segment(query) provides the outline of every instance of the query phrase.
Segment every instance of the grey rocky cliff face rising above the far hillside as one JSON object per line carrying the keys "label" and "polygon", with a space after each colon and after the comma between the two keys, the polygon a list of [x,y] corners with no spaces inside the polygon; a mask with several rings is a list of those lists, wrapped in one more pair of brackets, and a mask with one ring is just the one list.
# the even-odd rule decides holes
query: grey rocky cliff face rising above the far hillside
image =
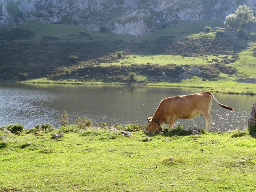
{"label": "grey rocky cliff face rising above the far hillside", "polygon": [[176,20],[224,20],[240,4],[255,9],[256,0],[0,0],[0,26],[34,20],[142,35]]}

